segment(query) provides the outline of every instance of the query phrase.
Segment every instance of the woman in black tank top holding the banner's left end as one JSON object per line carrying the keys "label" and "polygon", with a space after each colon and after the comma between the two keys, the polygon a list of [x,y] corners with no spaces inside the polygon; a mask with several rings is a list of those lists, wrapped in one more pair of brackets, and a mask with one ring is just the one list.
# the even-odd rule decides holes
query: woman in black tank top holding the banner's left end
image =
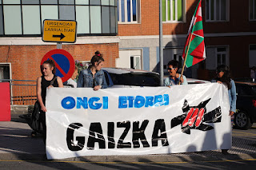
{"label": "woman in black tank top holding the banner's left end", "polygon": [[42,136],[46,142],[46,89],[50,87],[63,87],[62,78],[54,75],[56,73],[53,60],[44,61],[41,65],[42,77],[37,80],[37,98],[41,108],[39,120],[42,123]]}

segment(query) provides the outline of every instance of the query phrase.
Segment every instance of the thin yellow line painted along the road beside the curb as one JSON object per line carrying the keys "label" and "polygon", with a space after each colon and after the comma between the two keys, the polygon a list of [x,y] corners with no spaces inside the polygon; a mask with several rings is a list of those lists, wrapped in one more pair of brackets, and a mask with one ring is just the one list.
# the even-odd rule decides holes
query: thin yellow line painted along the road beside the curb
{"label": "thin yellow line painted along the road beside the curb", "polygon": [[184,161],[184,162],[86,162],[86,161],[59,161],[59,160],[0,160],[0,162],[38,162],[38,163],[75,163],[75,164],[190,164],[194,162],[241,162],[256,161],[256,159],[245,160],[206,160],[206,161]]}

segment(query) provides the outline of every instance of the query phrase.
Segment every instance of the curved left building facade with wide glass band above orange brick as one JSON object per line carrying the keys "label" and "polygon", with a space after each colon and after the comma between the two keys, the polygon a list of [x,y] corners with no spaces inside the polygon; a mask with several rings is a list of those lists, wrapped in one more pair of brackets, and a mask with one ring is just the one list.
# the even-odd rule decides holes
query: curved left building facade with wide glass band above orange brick
{"label": "curved left building facade with wide glass band above orange brick", "polygon": [[106,67],[118,57],[116,0],[0,0],[0,79],[36,80],[42,57],[57,43],[42,42],[45,19],[72,20],[77,41],[62,44],[74,60],[90,61],[96,50]]}

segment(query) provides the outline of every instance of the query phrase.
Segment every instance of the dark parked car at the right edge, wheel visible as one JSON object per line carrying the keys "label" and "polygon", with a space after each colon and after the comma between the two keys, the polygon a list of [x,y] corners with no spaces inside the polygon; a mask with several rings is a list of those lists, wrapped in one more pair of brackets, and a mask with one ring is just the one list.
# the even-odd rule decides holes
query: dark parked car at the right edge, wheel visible
{"label": "dark parked car at the right edge, wheel visible", "polygon": [[234,127],[251,128],[256,122],[256,83],[235,81],[237,91],[237,112],[234,113]]}

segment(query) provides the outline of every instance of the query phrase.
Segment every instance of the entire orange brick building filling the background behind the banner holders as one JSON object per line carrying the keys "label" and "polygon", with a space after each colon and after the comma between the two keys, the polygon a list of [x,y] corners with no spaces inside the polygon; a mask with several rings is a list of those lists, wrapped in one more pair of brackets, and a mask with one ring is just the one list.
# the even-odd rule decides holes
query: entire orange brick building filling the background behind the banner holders
{"label": "entire orange brick building filling the background behind the banner holders", "polygon": [[[162,0],[164,67],[181,60],[197,4]],[[217,65],[226,64],[233,77],[250,77],[255,8],[256,0],[202,0],[206,61],[186,69],[186,76],[209,80]],[[99,50],[106,67],[159,70],[159,0],[0,0],[0,79],[40,75],[42,57],[56,49],[56,43],[42,42],[44,19],[78,22],[77,42],[62,45],[75,60],[89,61]]]}

